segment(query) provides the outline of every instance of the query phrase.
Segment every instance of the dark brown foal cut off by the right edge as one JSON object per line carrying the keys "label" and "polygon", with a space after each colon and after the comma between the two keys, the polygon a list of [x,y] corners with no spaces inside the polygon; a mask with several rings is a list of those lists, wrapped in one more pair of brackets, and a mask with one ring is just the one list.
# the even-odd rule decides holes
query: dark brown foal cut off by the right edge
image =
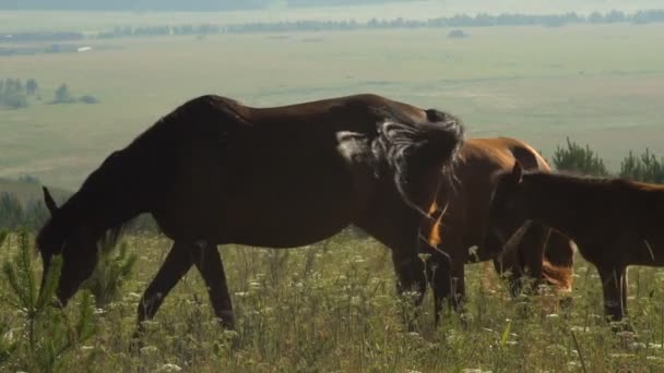
{"label": "dark brown foal cut off by the right edge", "polygon": [[502,230],[505,218],[518,217],[572,238],[600,273],[606,315],[619,321],[627,314],[627,266],[664,266],[662,214],[664,185],[524,172],[515,163],[499,176],[489,226]]}

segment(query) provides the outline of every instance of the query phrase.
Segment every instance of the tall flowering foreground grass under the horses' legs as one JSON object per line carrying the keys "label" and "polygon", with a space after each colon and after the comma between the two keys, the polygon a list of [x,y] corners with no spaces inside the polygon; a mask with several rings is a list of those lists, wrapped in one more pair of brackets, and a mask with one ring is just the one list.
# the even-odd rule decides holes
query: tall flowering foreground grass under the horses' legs
{"label": "tall flowering foreground grass under the horses' legs", "polygon": [[[20,252],[16,236],[0,260]],[[631,272],[630,315],[638,333],[615,334],[602,316],[600,280],[579,261],[571,304],[552,291],[510,299],[485,266],[467,270],[469,302],[462,315],[434,327],[429,297],[415,332],[402,321],[404,300],[394,291],[389,252],[372,240],[339,236],[289,251],[224,246],[222,255],[238,316],[237,332],[214,320],[198,273],[192,270],[146,323],[140,351],[130,336],[141,292],[170,242],[156,236],[126,238],[138,255],[119,298],[94,312],[95,333],[59,356],[59,370],[258,372],[512,372],[661,371],[664,369],[664,272]],[[36,265],[38,262],[35,262]],[[12,290],[0,282],[2,294]],[[72,318],[90,305],[78,296]],[[0,352],[25,338],[25,316],[3,298]],[[55,311],[54,311],[55,312]],[[48,340],[48,336],[45,337]],[[4,345],[3,345],[4,344]],[[2,354],[0,353],[0,357]],[[9,350],[0,370],[25,369]]]}

